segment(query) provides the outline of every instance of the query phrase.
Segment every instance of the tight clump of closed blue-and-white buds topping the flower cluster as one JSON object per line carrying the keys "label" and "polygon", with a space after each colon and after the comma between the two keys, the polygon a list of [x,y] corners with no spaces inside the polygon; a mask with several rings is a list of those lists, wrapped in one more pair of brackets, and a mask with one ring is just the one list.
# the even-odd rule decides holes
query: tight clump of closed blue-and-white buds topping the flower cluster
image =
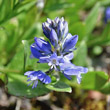
{"label": "tight clump of closed blue-and-white buds topping the flower cluster", "polygon": [[[62,17],[59,19],[58,17],[55,20],[51,20],[47,18],[47,21],[42,24],[42,29],[44,35],[50,40],[52,45],[55,45],[55,42],[61,41],[68,34],[68,23],[64,21]],[[55,42],[52,42],[55,39]]]}

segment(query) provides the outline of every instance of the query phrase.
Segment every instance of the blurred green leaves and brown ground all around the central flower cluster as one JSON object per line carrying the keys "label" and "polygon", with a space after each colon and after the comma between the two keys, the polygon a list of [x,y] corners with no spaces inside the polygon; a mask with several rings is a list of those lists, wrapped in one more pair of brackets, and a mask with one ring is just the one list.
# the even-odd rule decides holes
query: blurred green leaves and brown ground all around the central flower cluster
{"label": "blurred green leaves and brown ground all around the central flower cluster", "polygon": [[[110,0],[0,0],[0,110],[110,110],[109,6]],[[42,23],[55,17],[64,17],[69,32],[79,36],[72,62],[89,73],[80,85],[75,78],[64,80],[72,93],[29,95],[23,66],[47,69],[29,58],[29,45],[35,36],[44,37]]]}

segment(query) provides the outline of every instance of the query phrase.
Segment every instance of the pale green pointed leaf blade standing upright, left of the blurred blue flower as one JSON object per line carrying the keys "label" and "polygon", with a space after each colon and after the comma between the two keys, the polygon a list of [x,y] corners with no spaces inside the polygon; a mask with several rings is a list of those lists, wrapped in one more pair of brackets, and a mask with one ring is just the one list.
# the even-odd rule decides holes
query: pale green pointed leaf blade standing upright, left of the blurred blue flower
{"label": "pale green pointed leaf blade standing upright, left of the blurred blue flower", "polygon": [[85,24],[87,35],[90,34],[96,26],[97,18],[99,16],[99,9],[100,3],[98,2],[96,3],[96,5],[93,7],[93,9],[86,18]]}

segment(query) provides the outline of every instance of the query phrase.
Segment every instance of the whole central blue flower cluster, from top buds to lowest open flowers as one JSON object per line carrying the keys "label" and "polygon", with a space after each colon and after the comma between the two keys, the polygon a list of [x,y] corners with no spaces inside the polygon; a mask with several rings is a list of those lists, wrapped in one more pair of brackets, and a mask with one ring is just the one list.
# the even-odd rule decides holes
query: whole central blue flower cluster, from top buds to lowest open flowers
{"label": "whole central blue flower cluster, from top buds to lowest open flowers", "polygon": [[[47,18],[47,21],[42,24],[42,29],[48,41],[35,37],[35,42],[30,46],[31,56],[39,59],[38,63],[48,63],[50,71],[62,73],[69,80],[72,75],[75,75],[80,83],[81,73],[87,73],[88,69],[71,63],[78,36],[72,36],[68,32],[68,23],[63,17],[61,19],[56,17],[55,20]],[[33,82],[34,88],[38,80],[45,84],[51,83],[51,78],[46,73],[28,71],[25,75],[28,76],[28,81]]]}

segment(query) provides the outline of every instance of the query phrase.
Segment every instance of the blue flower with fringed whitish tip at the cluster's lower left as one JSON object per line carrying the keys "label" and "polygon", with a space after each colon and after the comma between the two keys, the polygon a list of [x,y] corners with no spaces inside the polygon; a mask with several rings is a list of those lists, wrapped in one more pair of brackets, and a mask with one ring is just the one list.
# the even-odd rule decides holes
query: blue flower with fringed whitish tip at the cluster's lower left
{"label": "blue flower with fringed whitish tip at the cluster's lower left", "polygon": [[28,71],[24,73],[24,75],[27,75],[27,77],[29,78],[27,81],[31,81],[28,85],[33,83],[32,88],[37,87],[38,80],[45,84],[51,83],[51,78],[42,71]]}

